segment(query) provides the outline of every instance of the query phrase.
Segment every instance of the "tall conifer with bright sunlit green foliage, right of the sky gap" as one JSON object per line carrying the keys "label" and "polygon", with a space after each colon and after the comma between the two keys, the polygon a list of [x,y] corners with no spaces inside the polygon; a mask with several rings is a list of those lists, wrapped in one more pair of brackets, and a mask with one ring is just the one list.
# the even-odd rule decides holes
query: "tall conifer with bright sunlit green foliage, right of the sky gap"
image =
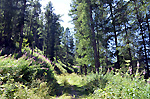
{"label": "tall conifer with bright sunlit green foliage, right of the sky gap", "polygon": [[[75,34],[78,40],[76,43],[78,53],[77,60],[85,60],[83,62],[78,60],[78,63],[82,63],[81,65],[86,68],[90,65],[90,63],[86,61],[94,61],[95,69],[99,72],[99,50],[96,41],[95,23],[93,21],[93,2],[94,1],[90,0],[74,0],[70,14],[74,18],[73,21],[77,32]],[[89,59],[87,59],[88,57]]]}

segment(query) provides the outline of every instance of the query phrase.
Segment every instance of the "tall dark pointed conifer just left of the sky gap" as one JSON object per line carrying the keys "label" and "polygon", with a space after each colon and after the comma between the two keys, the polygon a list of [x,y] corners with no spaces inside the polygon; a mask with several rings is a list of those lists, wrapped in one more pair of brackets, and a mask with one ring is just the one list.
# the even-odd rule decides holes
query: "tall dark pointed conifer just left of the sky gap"
{"label": "tall dark pointed conifer just left of the sky gap", "polygon": [[60,27],[60,24],[59,24],[60,15],[56,15],[54,13],[51,2],[48,3],[45,9],[46,9],[46,12],[45,12],[45,21],[46,21],[45,23],[45,31],[46,31],[45,54],[52,61],[54,61],[56,38],[59,38],[60,36],[60,31],[58,31]]}

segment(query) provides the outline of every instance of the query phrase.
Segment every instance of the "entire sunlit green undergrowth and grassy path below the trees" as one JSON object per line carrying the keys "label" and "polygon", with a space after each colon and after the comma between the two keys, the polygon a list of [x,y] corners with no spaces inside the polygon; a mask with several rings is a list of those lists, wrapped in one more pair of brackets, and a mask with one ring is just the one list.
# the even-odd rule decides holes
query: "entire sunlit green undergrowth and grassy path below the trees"
{"label": "entire sunlit green undergrowth and grassy path below the trees", "polygon": [[29,53],[18,59],[0,56],[1,99],[150,98],[150,85],[138,71],[134,77],[113,71],[85,76],[68,73],[60,62],[56,65],[62,74],[58,75],[48,58],[36,52],[30,57]]}

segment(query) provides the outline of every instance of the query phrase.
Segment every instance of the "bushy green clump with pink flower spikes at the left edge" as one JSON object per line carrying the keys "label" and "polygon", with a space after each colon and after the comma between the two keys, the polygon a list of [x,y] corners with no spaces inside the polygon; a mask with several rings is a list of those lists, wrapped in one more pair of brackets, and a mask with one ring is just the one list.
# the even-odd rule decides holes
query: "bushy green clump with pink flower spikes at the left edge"
{"label": "bushy green clump with pink flower spikes at the left edge", "polygon": [[1,59],[0,74],[2,78],[4,77],[2,80],[4,83],[9,79],[14,79],[15,82],[22,82],[25,84],[31,81],[34,69],[30,64],[33,60],[29,59],[25,61],[25,56],[18,60],[13,59],[11,56],[1,57]]}

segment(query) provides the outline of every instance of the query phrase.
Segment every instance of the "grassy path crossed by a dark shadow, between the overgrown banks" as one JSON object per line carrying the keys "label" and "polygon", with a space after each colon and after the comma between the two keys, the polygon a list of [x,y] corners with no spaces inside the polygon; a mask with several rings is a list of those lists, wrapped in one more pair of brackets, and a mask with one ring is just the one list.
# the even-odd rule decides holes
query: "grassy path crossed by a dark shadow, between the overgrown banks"
{"label": "grassy path crossed by a dark shadow, between the overgrown banks", "polygon": [[76,74],[57,75],[56,79],[61,86],[62,95],[55,99],[78,99],[88,95],[87,89],[84,88],[83,76]]}

